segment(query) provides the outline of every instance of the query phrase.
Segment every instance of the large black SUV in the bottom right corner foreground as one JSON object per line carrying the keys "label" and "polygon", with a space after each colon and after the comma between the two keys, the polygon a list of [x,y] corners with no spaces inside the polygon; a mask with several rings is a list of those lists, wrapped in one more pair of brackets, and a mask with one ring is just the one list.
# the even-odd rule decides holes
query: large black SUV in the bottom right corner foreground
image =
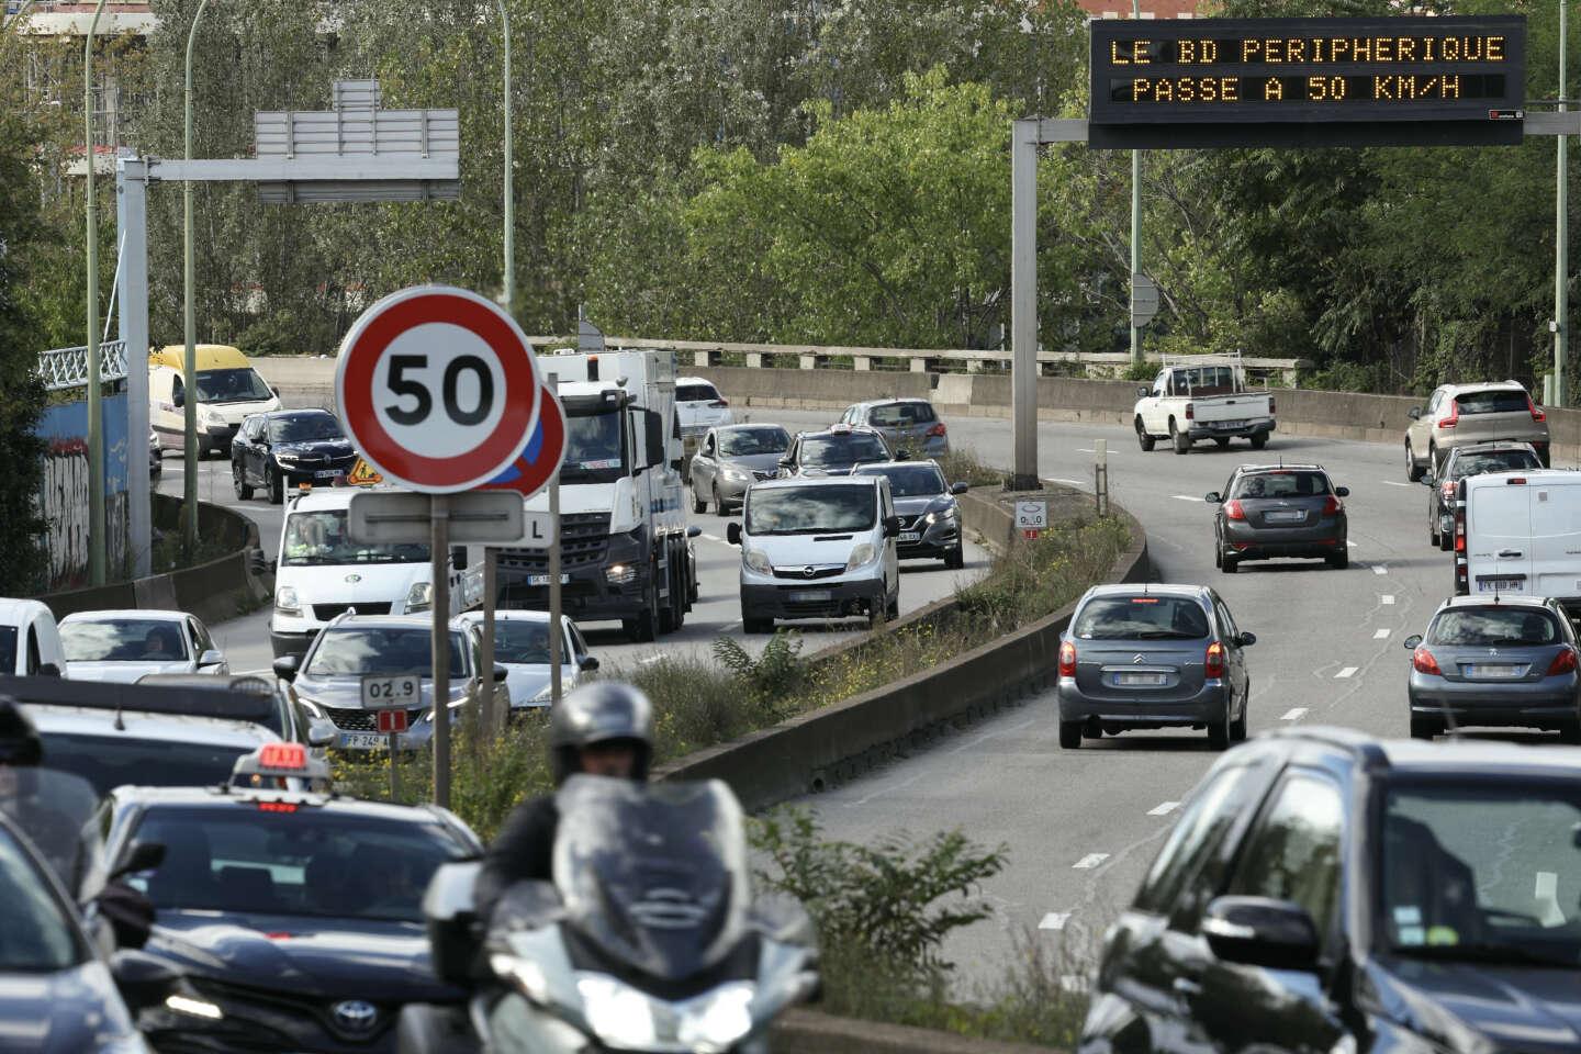
{"label": "large black SUV in the bottom right corner foreground", "polygon": [[1110,928],[1080,1051],[1575,1051],[1581,751],[1282,730]]}

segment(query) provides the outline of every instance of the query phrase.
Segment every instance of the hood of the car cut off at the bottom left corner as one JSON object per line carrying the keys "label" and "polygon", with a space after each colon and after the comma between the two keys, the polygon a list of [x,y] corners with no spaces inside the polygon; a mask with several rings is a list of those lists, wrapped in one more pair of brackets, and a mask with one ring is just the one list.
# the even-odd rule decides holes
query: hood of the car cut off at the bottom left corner
{"label": "hood of the car cut off at the bottom left corner", "polygon": [[55,973],[0,972],[0,1051],[81,1054],[141,1049],[126,1005],[100,961]]}

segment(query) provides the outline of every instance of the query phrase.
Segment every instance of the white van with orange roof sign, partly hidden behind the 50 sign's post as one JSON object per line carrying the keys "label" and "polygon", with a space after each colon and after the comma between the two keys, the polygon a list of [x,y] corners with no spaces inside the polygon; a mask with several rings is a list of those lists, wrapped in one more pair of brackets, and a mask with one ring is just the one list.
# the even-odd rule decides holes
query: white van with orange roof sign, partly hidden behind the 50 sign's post
{"label": "white van with orange roof sign, partly hidden behind the 50 sign's post", "polygon": [[[286,496],[275,559],[275,608],[269,645],[300,656],[332,618],[414,615],[432,610],[433,564],[427,544],[364,545],[351,540],[346,515],[360,487],[319,487]],[[482,577],[466,572],[466,547],[451,548],[451,615],[482,600]]]}

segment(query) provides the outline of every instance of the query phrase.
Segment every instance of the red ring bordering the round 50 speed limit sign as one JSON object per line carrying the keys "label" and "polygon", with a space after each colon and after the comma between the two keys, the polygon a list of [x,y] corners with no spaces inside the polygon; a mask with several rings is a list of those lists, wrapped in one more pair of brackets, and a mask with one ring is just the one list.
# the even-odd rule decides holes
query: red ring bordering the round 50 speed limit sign
{"label": "red ring bordering the round 50 speed limit sign", "polygon": [[[397,297],[402,294],[395,294]],[[341,420],[362,455],[379,471],[419,490],[462,490],[490,479],[520,450],[536,425],[539,384],[533,352],[509,318],[492,303],[455,292],[422,292],[387,307],[341,351],[337,378]],[[504,373],[504,412],[489,436],[465,454],[432,458],[400,446],[373,409],[373,373],[379,356],[417,326],[446,322],[471,330],[493,349]]]}

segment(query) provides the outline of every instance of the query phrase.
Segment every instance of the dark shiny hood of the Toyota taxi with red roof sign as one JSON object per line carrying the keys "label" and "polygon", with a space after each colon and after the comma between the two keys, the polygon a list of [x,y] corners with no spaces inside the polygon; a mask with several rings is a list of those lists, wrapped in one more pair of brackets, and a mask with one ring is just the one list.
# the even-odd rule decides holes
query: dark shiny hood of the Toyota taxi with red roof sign
{"label": "dark shiny hood of the Toyota taxi with red roof sign", "polygon": [[161,910],[145,951],[183,972],[294,996],[378,1003],[458,996],[435,980],[421,923]]}

